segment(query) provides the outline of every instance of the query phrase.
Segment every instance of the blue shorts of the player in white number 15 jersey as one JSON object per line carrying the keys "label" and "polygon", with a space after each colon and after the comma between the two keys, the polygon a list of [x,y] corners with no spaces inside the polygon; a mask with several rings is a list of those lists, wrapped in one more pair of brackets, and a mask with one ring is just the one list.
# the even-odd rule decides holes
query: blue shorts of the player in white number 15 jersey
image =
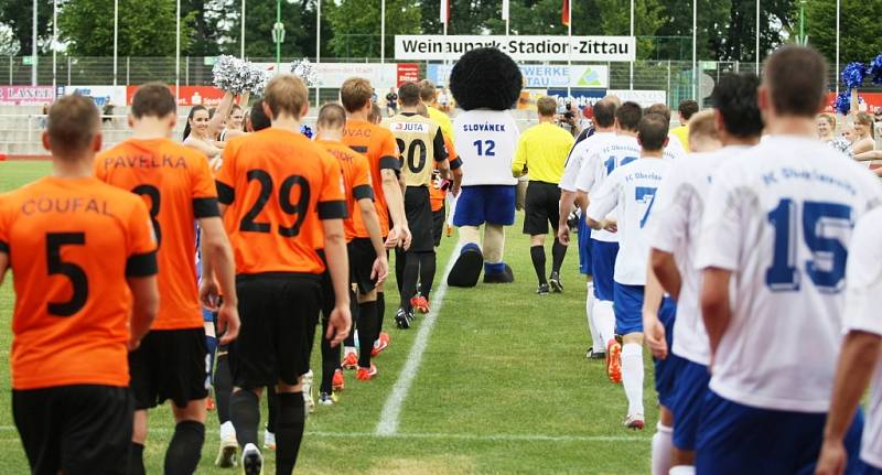
{"label": "blue shorts of the player in white number 15 jersey", "polygon": [[[708,390],[698,428],[696,473],[814,474],[826,419],[826,413],[743,406]],[[859,409],[846,433],[846,474],[858,474],[862,468],[858,458],[862,429]]]}

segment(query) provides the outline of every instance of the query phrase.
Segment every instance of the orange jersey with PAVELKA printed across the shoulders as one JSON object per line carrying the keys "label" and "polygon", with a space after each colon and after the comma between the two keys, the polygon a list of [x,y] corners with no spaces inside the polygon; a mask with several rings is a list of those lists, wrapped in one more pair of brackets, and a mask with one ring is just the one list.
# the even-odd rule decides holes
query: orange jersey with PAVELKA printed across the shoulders
{"label": "orange jersey with PAVELKA printed across the shoulders", "polygon": [[141,195],[150,210],[162,298],[151,328],[202,328],[195,220],[219,216],[208,160],[169,139],[129,139],[95,159],[95,175]]}

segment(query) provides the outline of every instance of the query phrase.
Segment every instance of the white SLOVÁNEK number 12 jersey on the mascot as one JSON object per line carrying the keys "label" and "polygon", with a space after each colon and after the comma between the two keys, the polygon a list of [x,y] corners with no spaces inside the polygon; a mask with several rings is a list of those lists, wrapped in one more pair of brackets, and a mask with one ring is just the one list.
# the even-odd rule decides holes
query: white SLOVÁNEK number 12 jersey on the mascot
{"label": "white SLOV\u00c1NEK number 12 jersey on the mascot", "polygon": [[512,162],[520,131],[505,110],[470,110],[453,121],[462,185],[515,185]]}

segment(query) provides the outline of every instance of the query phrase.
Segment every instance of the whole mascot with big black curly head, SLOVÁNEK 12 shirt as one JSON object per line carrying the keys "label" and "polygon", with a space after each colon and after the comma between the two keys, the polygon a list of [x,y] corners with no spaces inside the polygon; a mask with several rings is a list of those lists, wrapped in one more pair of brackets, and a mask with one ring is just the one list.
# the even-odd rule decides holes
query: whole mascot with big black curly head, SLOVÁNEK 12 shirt
{"label": "whole mascot with big black curly head, SLOV\u00c1NEK 12 shirt", "polygon": [[[503,262],[505,226],[515,223],[512,161],[519,137],[509,115],[520,97],[520,68],[496,48],[465,53],[450,74],[450,90],[464,110],[453,121],[453,138],[462,159],[462,192],[453,225],[460,229],[460,256],[448,284],[474,287],[484,270],[485,283],[514,282]],[[481,227],[484,240],[481,245]]]}

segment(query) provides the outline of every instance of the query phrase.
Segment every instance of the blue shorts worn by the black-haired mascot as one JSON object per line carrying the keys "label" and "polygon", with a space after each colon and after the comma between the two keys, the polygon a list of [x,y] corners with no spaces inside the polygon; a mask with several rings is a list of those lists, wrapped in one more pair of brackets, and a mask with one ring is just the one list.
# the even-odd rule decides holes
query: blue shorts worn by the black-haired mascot
{"label": "blue shorts worn by the black-haired mascot", "polygon": [[515,224],[514,185],[463,186],[456,198],[453,226]]}

